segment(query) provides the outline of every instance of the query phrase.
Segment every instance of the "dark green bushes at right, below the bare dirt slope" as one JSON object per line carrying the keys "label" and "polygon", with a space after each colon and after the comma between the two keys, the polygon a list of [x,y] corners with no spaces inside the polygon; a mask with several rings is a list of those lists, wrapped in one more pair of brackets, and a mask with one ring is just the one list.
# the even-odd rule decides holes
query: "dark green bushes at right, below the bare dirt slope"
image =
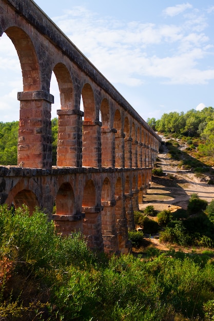
{"label": "dark green bushes at right, below the bare dirt slope", "polygon": [[144,234],[160,232],[161,241],[181,246],[214,247],[214,200],[208,205],[206,200],[193,193],[187,210],[163,210],[158,212],[155,220],[150,217],[153,216],[151,210],[149,206],[144,212],[134,212],[134,222]]}

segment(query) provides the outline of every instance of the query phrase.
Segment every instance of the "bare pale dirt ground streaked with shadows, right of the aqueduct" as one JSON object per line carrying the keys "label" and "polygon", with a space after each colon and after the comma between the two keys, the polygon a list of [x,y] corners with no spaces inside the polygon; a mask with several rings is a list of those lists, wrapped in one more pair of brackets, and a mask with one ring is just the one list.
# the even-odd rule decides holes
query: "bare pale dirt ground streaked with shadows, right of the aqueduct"
{"label": "bare pale dirt ground streaked with shadows, right of the aqueduct", "polygon": [[[179,208],[186,209],[192,193],[197,193],[200,198],[206,199],[208,203],[214,199],[214,186],[207,184],[208,176],[203,175],[199,178],[190,170],[181,170],[178,167],[179,162],[169,158],[166,147],[163,153],[158,155],[158,158],[157,165],[162,167],[165,175],[163,177],[152,176],[150,189],[144,195],[143,204],[139,205],[140,210],[144,210],[148,205],[152,205],[157,211],[170,209],[173,212]],[[160,243],[159,237],[147,240],[160,250],[173,248],[176,251],[192,252],[192,248],[181,248]],[[200,252],[201,250],[194,248],[195,252]]]}

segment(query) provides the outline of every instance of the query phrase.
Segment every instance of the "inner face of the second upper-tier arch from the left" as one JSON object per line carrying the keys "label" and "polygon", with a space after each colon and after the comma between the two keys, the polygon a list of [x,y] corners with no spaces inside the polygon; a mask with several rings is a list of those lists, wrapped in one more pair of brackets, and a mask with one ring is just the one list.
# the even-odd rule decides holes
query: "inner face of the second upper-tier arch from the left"
{"label": "inner face of the second upper-tier arch from the left", "polygon": [[61,109],[72,109],[74,106],[73,82],[67,67],[58,63],[53,68],[60,90]]}

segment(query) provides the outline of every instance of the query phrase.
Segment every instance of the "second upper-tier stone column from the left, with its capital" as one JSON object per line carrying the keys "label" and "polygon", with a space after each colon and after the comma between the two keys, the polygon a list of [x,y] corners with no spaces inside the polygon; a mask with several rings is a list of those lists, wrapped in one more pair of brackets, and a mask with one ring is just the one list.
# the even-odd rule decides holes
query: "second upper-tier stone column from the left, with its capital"
{"label": "second upper-tier stone column from the left, with its capital", "polygon": [[61,109],[57,141],[57,166],[82,166],[82,116],[80,110]]}

